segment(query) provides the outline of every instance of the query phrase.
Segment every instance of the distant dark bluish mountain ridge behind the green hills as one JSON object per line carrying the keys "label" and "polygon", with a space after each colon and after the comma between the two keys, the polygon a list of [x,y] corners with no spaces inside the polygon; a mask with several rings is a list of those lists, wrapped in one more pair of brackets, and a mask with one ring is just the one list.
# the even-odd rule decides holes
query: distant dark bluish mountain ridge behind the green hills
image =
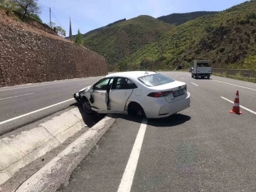
{"label": "distant dark bluish mountain ridge behind the green hills", "polygon": [[193,20],[195,18],[201,17],[201,16],[207,16],[210,14],[218,14],[218,11],[196,11],[186,14],[170,14],[168,16],[160,16],[160,21],[164,21],[165,23],[171,23],[176,26],[180,26],[183,23],[186,23],[187,21]]}

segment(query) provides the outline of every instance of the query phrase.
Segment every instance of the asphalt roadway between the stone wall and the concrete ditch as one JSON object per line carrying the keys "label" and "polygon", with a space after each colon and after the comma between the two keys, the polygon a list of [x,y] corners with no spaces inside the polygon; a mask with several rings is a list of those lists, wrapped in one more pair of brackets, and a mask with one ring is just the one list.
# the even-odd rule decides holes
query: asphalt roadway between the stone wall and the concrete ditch
{"label": "asphalt roadway between the stone wall and the concrete ditch", "polygon": [[70,107],[75,104],[71,93],[100,78],[0,87],[0,135]]}

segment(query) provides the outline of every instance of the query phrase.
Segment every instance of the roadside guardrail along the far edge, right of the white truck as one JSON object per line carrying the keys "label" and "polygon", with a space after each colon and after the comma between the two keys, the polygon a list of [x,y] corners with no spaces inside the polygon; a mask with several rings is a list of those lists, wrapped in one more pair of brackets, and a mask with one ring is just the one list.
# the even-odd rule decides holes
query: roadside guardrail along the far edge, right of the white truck
{"label": "roadside guardrail along the far edge, right of the white truck", "polygon": [[213,74],[221,75],[226,78],[246,79],[252,82],[256,81],[256,70],[213,68]]}

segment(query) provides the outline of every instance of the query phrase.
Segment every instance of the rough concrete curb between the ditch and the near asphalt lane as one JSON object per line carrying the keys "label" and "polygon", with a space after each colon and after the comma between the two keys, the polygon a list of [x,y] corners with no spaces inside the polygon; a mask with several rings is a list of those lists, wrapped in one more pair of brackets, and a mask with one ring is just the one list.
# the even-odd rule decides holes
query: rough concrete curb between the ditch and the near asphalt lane
{"label": "rough concrete curb between the ditch and the near asphalt lane", "polygon": [[105,132],[110,129],[115,120],[113,115],[107,115],[107,117],[82,134],[46,166],[43,166],[36,174],[28,178],[16,189],[16,192],[48,192],[58,190],[63,183],[68,182],[73,170],[90,153],[91,149],[100,141]]}

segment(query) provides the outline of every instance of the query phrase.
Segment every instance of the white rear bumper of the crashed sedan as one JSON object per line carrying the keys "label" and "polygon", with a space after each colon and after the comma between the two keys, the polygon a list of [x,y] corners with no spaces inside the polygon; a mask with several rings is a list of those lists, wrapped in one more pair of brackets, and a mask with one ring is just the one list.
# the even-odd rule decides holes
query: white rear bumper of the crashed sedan
{"label": "white rear bumper of the crashed sedan", "polygon": [[154,110],[144,110],[147,118],[164,118],[169,117],[171,114],[176,114],[177,112],[181,112],[188,107],[191,107],[190,103],[190,93],[183,100],[179,100],[177,102],[165,103],[164,105],[154,105]]}

